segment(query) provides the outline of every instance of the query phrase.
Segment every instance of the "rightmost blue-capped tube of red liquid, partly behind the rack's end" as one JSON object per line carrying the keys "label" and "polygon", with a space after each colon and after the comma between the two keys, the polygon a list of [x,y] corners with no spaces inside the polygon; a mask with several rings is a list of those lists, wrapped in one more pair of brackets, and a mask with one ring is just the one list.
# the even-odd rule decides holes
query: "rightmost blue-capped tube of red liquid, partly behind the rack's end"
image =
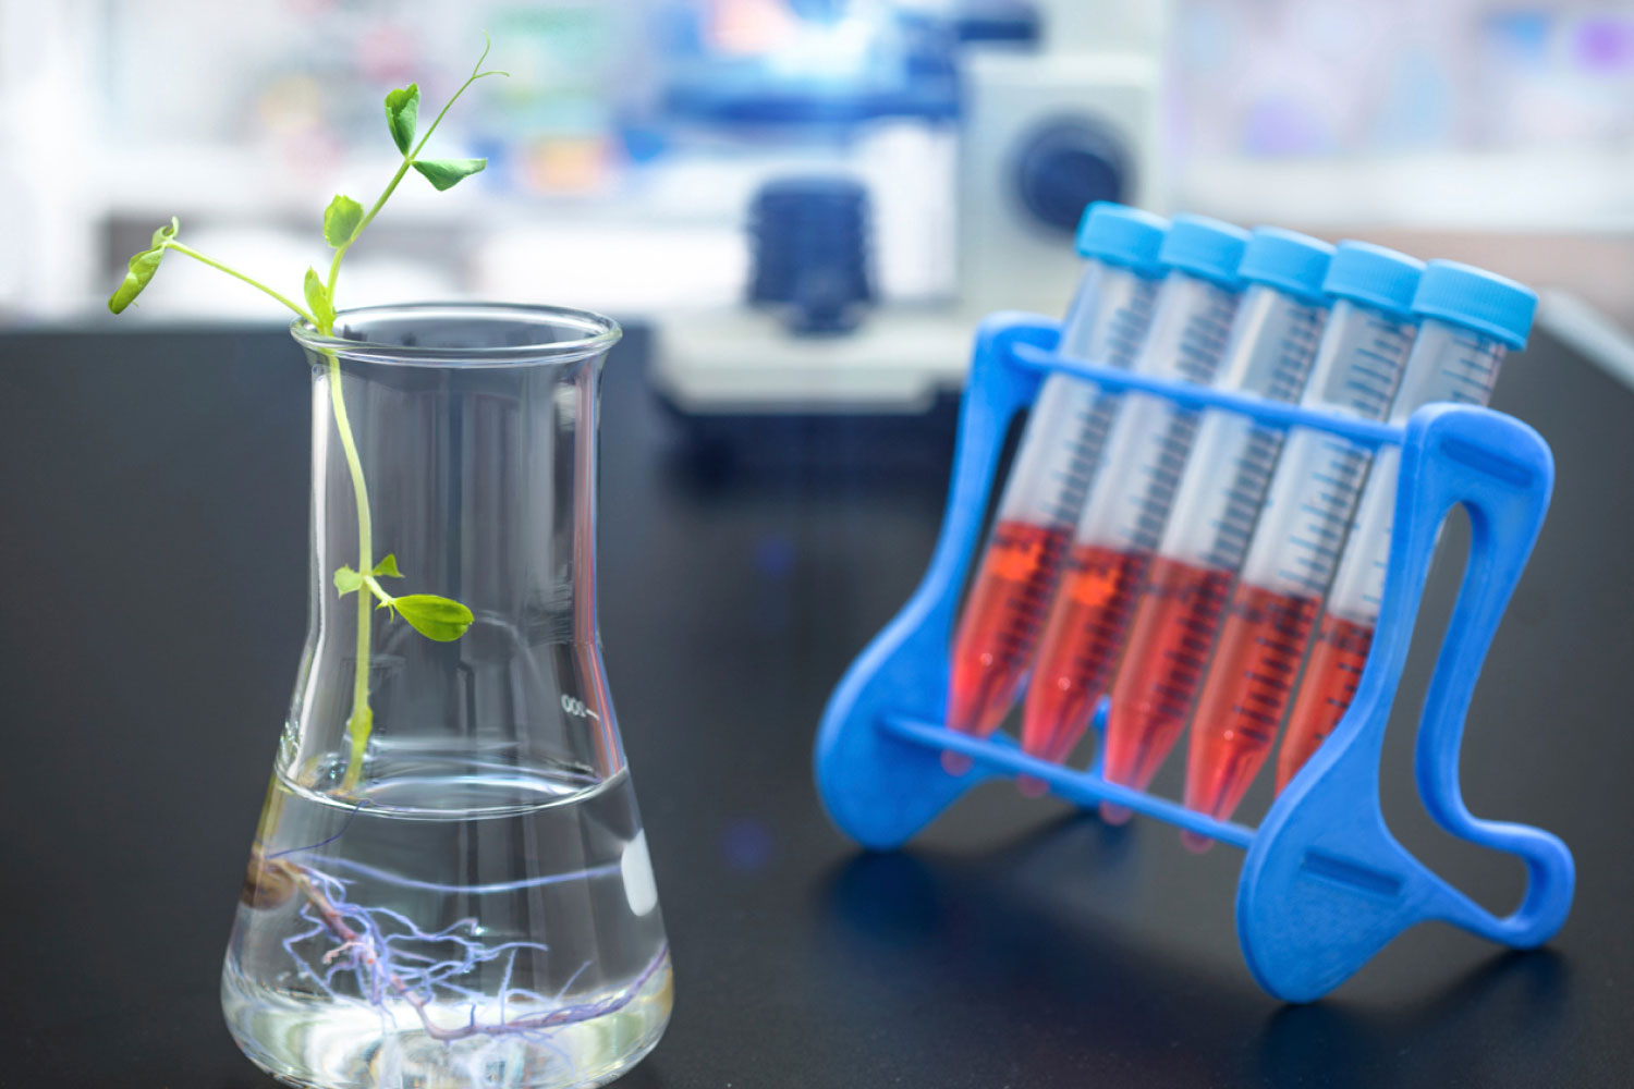
{"label": "rightmost blue-capped tube of red liquid, partly behind the rack's end", "polygon": [[[1505,351],[1526,344],[1536,307],[1538,296],[1521,284],[1467,264],[1430,261],[1413,296],[1423,328],[1391,421],[1407,423],[1415,408],[1430,402],[1485,405]],[[1278,790],[1338,725],[1361,678],[1384,599],[1399,465],[1397,447],[1384,447],[1374,459],[1356,524],[1333,576],[1322,635],[1299,682],[1288,736],[1278,753]],[[1234,792],[1240,795],[1221,784],[1201,792],[1199,802],[1229,811],[1237,802]]]}

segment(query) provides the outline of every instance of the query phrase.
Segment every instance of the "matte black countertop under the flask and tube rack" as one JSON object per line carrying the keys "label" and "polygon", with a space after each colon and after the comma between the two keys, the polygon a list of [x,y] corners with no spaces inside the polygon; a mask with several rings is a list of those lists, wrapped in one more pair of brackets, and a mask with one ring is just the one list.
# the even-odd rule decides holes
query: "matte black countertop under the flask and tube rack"
{"label": "matte black countertop under the flask and tube rack", "polygon": [[[1575,851],[1570,919],[1531,953],[1425,926],[1284,1006],[1237,952],[1234,849],[1194,857],[1168,826],[1109,829],[1007,784],[899,854],[827,823],[815,723],[918,581],[951,436],[925,439],[936,470],[881,472],[877,426],[789,423],[784,447],[820,465],[693,472],[645,353],[634,333],[606,369],[601,629],[676,1009],[621,1086],[1634,1081],[1626,389],[1539,336],[1497,395],[1554,446],[1559,485],[1476,692],[1464,790]],[[0,1086],[273,1084],[216,988],[306,627],[307,413],[281,331],[0,335]],[[1426,617],[1459,567],[1443,555]],[[1386,740],[1386,816],[1507,908],[1520,865],[1440,833],[1412,792],[1435,635]]]}

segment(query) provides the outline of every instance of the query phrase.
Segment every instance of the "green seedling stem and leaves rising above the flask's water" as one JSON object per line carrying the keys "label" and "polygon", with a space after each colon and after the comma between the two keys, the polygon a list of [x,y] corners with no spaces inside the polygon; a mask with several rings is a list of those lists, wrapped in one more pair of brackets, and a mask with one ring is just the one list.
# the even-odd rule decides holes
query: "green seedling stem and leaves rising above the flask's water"
{"label": "green seedling stem and leaves rising above the flask's water", "polygon": [[[426,142],[431,139],[431,134],[436,132],[436,126],[443,122],[443,118],[448,114],[449,108],[459,101],[459,96],[466,93],[466,88],[490,75],[508,75],[507,72],[482,69],[482,62],[487,60],[489,47],[492,46],[492,42],[487,41],[487,34],[484,34],[484,42],[482,56],[477,57],[477,64],[471,69],[471,77],[461,83],[459,90],[454,91],[453,98],[448,100],[448,104],[443,106],[426,127],[425,134],[420,136],[418,142],[415,142],[420,122],[418,85],[410,83],[408,87],[397,88],[386,95],[386,127],[404,160],[397,167],[397,173],[394,173],[392,180],[386,184],[386,191],[381,193],[368,211],[363,209],[363,204],[343,194],[337,194],[335,199],[328,202],[328,207],[324,209],[324,242],[328,243],[333,255],[328,261],[327,278],[319,276],[315,268],[307,269],[306,281],[301,289],[306,302],[304,307],[291,300],[288,296],[273,291],[266,284],[178,242],[176,235],[181,230],[181,224],[172,217],[167,225],[154,232],[149,248],[131,258],[129,271],[126,271],[124,281],[108,299],[108,309],[114,313],[123,313],[124,309],[129,307],[154,279],[154,273],[158,271],[158,264],[165,253],[168,250],[175,250],[183,256],[203,261],[204,264],[221,269],[227,276],[240,279],[250,287],[265,292],[292,310],[301,317],[301,320],[307,322],[324,336],[333,336],[335,286],[340,281],[340,263],[353,243],[356,243],[363,232],[368,230],[369,224],[374,222],[381,207],[384,207],[386,201],[397,191],[397,184],[408,175],[408,171],[413,170],[422,178],[430,181],[433,188],[443,191],[451,189],[464,178],[469,178],[487,167],[485,158],[422,158],[420,155],[420,152],[425,150]],[[356,673],[353,678],[351,715],[346,718],[346,735],[351,741],[351,751],[346,758],[346,772],[340,785],[342,793],[351,793],[363,774],[363,758],[368,749],[369,733],[374,728],[374,712],[369,710],[371,602],[374,602],[379,609],[386,609],[391,616],[400,616],[410,627],[413,627],[413,630],[436,642],[453,642],[459,638],[466,633],[466,629],[471,627],[474,617],[471,609],[449,598],[440,598],[436,594],[394,596],[381,585],[382,578],[404,578],[404,575],[397,570],[395,553],[387,553],[386,558],[379,562],[374,560],[369,491],[363,475],[363,462],[358,457],[358,444],[351,434],[351,423],[346,418],[346,402],[340,389],[340,358],[332,348],[325,348],[322,353],[328,358],[328,395],[335,413],[335,429],[340,434],[340,444],[346,454],[346,467],[351,473],[351,491],[358,504],[358,567],[353,568],[346,565],[335,571],[335,591],[342,598],[350,593],[358,594]],[[364,575],[363,571],[368,573]]]}

